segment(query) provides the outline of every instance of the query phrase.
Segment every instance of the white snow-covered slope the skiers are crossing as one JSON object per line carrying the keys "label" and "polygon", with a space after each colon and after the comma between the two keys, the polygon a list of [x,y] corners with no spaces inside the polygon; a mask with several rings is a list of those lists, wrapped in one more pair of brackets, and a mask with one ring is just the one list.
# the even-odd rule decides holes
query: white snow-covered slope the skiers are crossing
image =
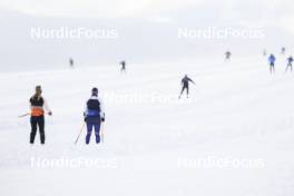
{"label": "white snow-covered slope the skiers are crossing", "polygon": [[[115,66],[1,74],[0,195],[292,196],[294,76],[284,74],[282,60],[275,76],[262,58],[216,61],[131,65],[127,75]],[[189,99],[177,100],[186,72],[196,86]],[[29,119],[17,117],[36,85],[53,111],[46,146],[38,135],[30,146]],[[105,143],[84,145],[84,131],[75,146],[94,86],[106,105]],[[133,98],[116,100],[126,95]],[[32,158],[110,165],[37,168]],[[257,164],[185,165],[199,158]]]}

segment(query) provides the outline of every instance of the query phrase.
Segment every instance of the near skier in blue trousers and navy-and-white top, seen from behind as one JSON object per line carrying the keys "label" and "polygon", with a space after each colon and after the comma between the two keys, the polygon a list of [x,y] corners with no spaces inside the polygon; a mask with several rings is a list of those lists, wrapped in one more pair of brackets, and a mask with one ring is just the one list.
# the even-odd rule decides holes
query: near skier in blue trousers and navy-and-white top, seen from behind
{"label": "near skier in blue trousers and navy-and-white top, seen from behind", "polygon": [[91,97],[86,104],[84,112],[85,121],[87,124],[86,144],[90,143],[91,131],[95,128],[96,144],[100,143],[100,125],[105,121],[104,104],[98,98],[98,89],[92,88]]}

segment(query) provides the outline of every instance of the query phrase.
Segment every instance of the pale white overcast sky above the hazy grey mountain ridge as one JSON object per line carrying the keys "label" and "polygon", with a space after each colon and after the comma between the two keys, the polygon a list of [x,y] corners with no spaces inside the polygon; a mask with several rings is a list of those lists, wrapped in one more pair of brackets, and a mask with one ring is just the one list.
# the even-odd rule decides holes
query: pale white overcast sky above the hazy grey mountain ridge
{"label": "pale white overcast sky above the hazy grey mountain ridge", "polygon": [[258,8],[261,12],[293,14],[292,0],[1,0],[1,7],[27,13],[71,17],[145,17],[168,10],[180,10],[203,4],[218,6],[226,11]]}

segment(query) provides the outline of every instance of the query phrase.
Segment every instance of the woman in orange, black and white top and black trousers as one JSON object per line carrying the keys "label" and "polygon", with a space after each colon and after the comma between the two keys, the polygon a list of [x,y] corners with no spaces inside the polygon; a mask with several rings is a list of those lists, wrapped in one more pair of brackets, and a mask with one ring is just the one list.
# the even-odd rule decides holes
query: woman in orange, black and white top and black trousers
{"label": "woman in orange, black and white top and black trousers", "polygon": [[45,144],[45,109],[48,111],[48,115],[51,116],[52,111],[49,109],[46,99],[41,96],[42,89],[41,86],[36,87],[35,95],[30,98],[30,144],[33,144],[35,137],[37,134],[37,127],[39,127],[41,144]]}

